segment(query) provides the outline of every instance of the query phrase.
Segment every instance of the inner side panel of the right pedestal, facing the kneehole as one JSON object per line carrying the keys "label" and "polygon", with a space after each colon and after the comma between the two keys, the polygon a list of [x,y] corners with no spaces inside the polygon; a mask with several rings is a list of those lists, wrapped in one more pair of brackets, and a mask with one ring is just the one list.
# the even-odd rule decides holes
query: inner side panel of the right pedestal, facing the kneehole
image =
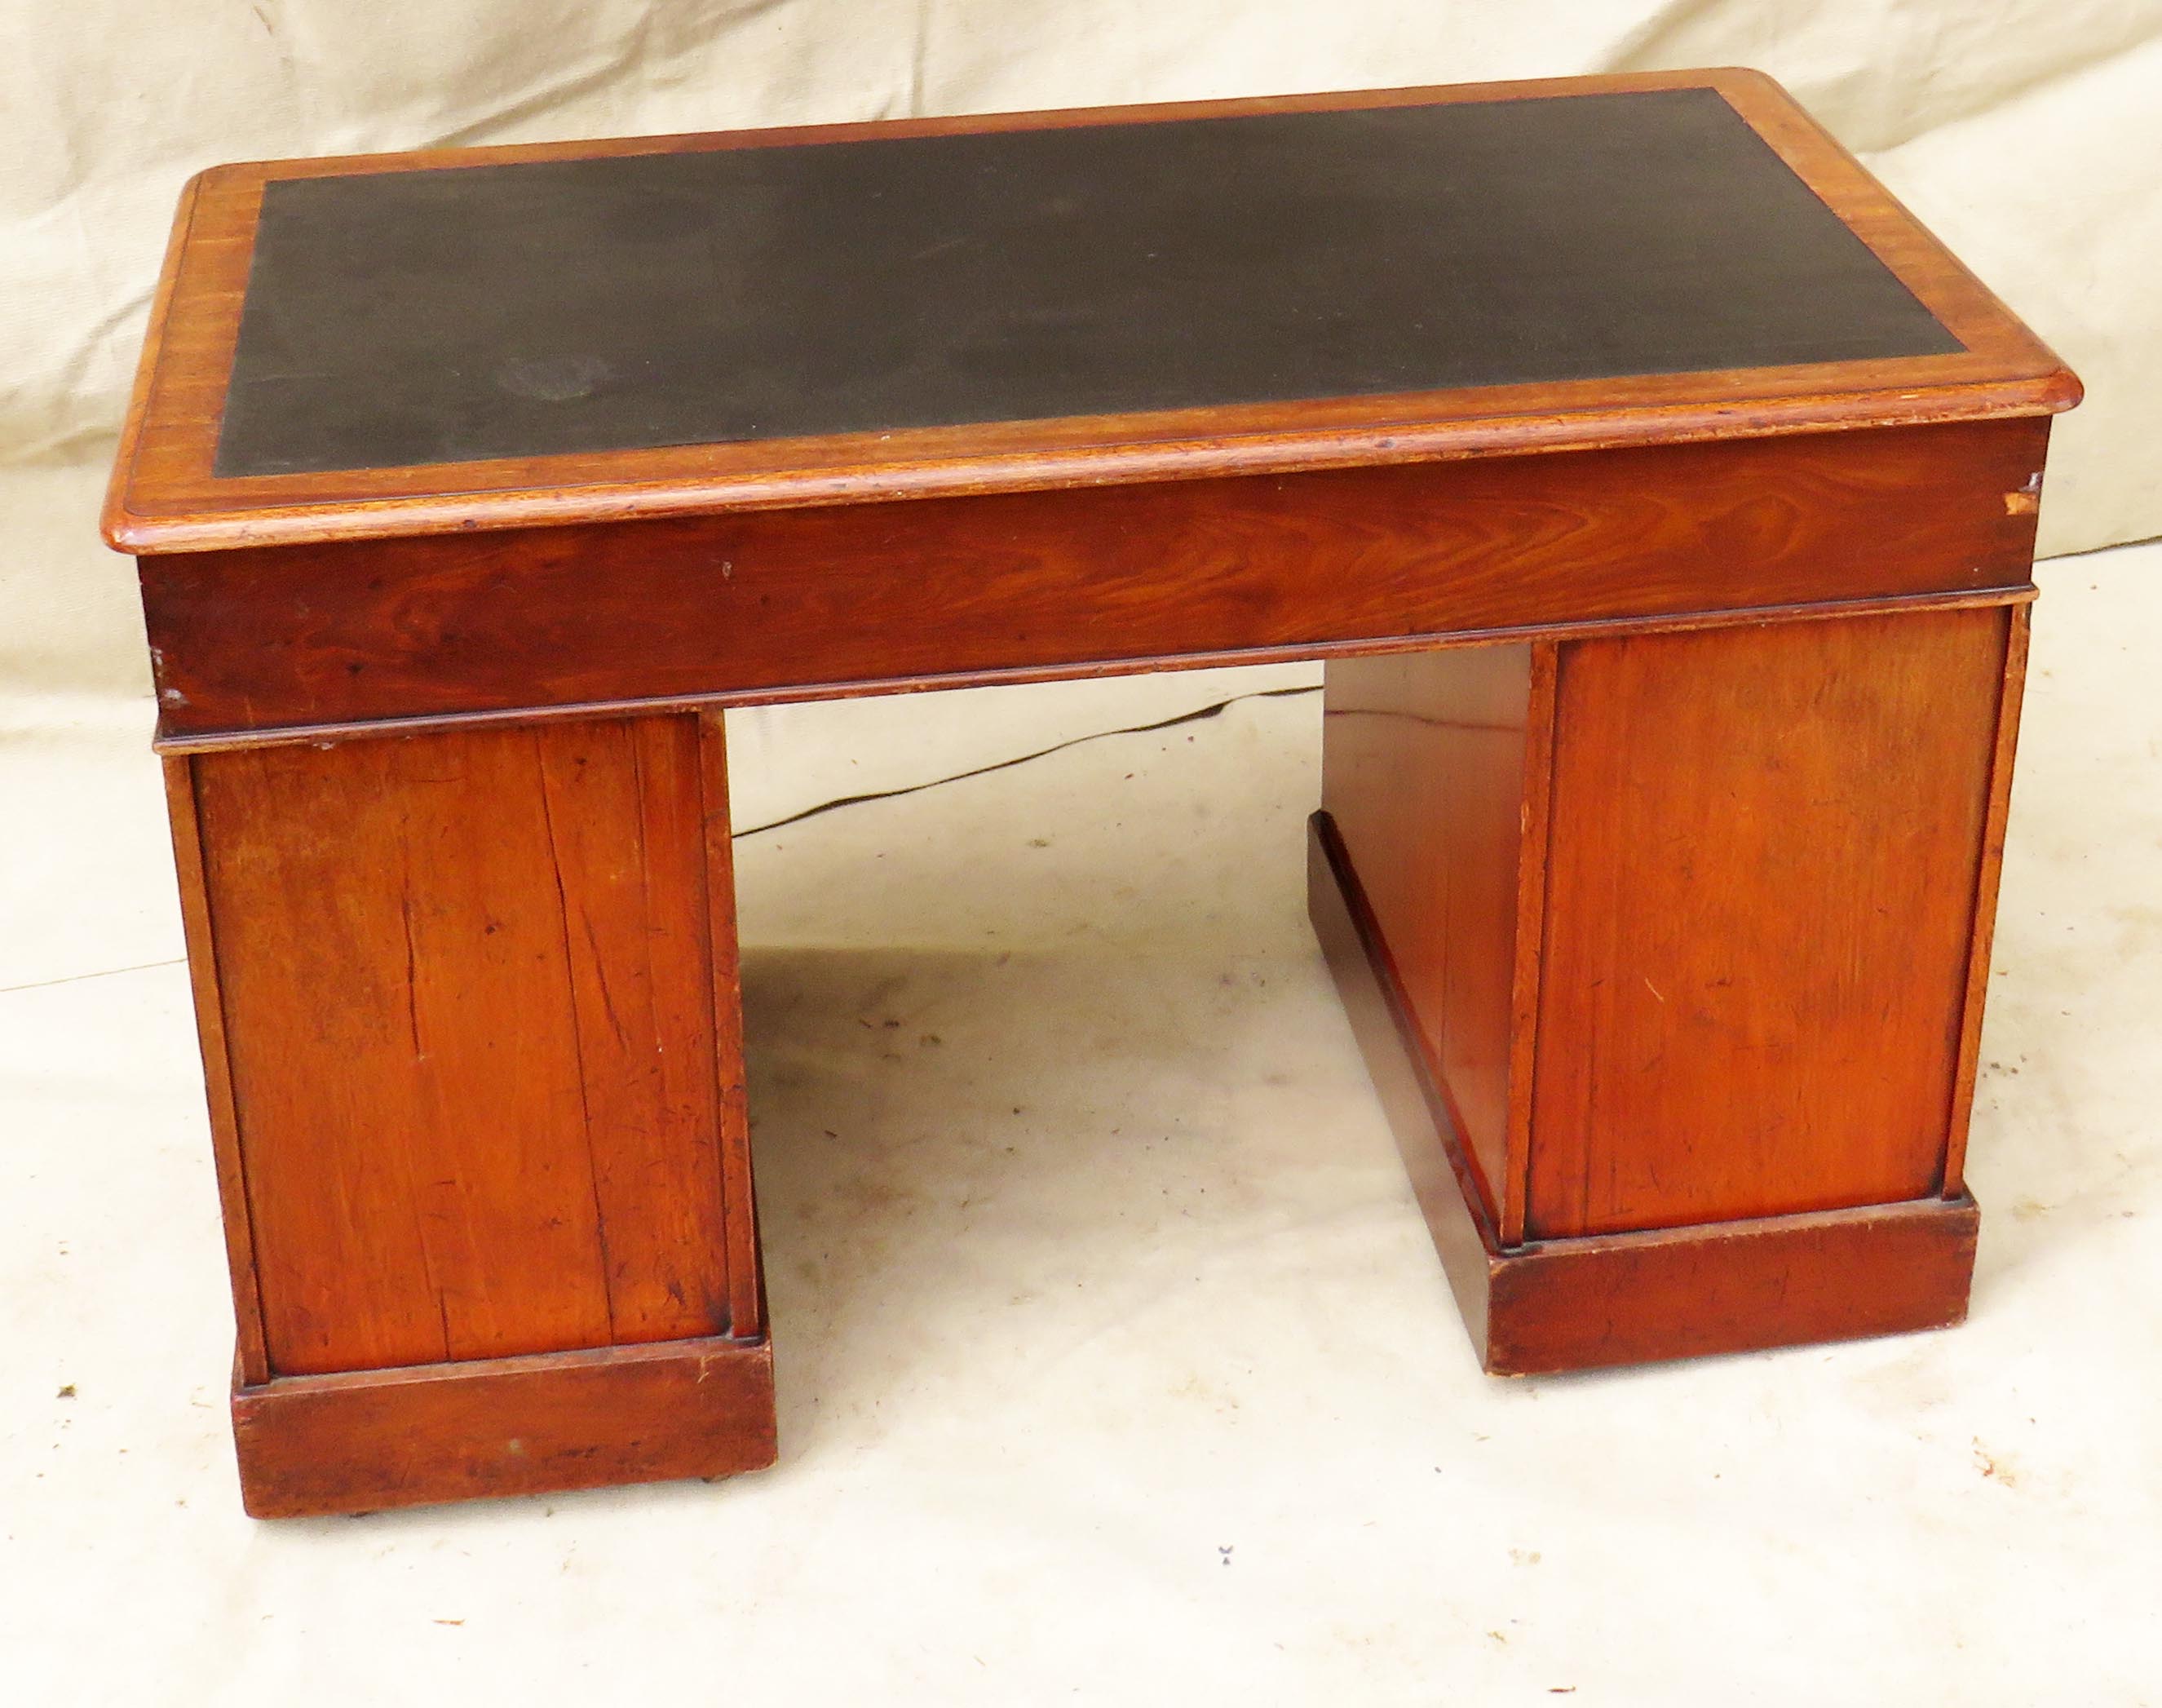
{"label": "inner side panel of the right pedestal, facing the kneehole", "polygon": [[1494,1222],[1509,1180],[1531,664],[1531,646],[1330,664],[1321,720],[1321,806]]}

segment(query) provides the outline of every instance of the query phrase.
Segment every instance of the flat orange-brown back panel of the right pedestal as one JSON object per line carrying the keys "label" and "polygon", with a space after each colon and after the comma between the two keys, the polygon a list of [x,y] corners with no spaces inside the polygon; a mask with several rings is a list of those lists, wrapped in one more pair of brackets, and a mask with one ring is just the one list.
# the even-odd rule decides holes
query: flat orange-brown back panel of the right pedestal
{"label": "flat orange-brown back panel of the right pedestal", "polygon": [[1533,1239],[1939,1191],[2006,631],[1561,651]]}

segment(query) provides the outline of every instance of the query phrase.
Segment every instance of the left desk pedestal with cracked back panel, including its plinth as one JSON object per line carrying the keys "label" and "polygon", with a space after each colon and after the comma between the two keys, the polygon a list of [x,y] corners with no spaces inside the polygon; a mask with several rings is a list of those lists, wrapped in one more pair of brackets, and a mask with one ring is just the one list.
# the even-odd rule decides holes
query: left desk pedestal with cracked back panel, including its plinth
{"label": "left desk pedestal with cracked back panel, including its plinth", "polygon": [[166,765],[249,1511],[772,1464],[720,713]]}

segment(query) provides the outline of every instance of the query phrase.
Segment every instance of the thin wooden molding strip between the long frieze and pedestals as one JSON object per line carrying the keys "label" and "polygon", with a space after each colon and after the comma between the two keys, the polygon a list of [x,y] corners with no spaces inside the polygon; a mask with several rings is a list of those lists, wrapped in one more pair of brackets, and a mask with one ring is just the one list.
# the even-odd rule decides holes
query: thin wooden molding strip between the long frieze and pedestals
{"label": "thin wooden molding strip between the long frieze and pedestals", "polygon": [[953,688],[1012,688],[1036,681],[1098,681],[1159,670],[1228,670],[1247,664],[1304,664],[1336,657],[1384,657],[1429,653],[1438,646],[1503,646],[1513,642],[1604,640],[1628,633],[1684,629],[1730,629],[1758,623],[1805,623],[1838,616],[1890,616],[1896,612],[1946,612],[1972,605],[2030,605],[2032,582],[1976,588],[1974,592],[1900,592],[1881,599],[1818,599],[1801,605],[1736,605],[1710,612],[1665,612],[1654,616],[1600,616],[1572,623],[1520,623],[1498,629],[1453,629],[1446,633],[1379,636],[1373,640],[1317,640],[1302,646],[1235,646],[1211,653],[1087,659],[1081,664],[1029,664],[999,670],[956,670],[947,675],[891,677],[884,681],[787,683],[718,694],[657,696],[640,700],[564,700],[558,705],[504,707],[499,711],[437,711],[365,722],[283,724],[275,729],[171,733],[164,718],[151,748],[160,755],[227,752],[233,748],[294,746],[309,742],[357,742],[383,735],[426,735],[430,731],[489,729],[499,724],[551,722],[558,718],[644,718],[662,711],[720,713],[729,707],[800,705],[811,700],[856,700],[869,694],[940,694]]}

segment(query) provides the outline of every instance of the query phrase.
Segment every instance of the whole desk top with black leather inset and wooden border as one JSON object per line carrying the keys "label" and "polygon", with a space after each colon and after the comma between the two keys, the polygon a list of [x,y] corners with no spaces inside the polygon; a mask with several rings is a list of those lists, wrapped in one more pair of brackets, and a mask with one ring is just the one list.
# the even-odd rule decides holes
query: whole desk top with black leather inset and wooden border
{"label": "whole desk top with black leather inset and wooden border", "polygon": [[136,551],[2041,413],[1775,84],[1576,78],[225,166]]}

